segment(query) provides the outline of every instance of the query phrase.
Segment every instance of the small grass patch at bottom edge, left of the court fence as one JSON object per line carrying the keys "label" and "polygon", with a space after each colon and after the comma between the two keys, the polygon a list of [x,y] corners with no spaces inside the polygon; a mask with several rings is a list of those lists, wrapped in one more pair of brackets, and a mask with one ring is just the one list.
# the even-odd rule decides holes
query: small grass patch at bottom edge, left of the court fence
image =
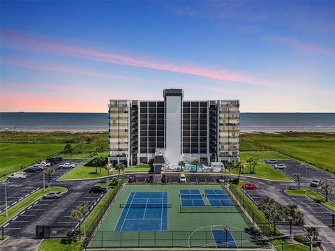
{"label": "small grass patch at bottom edge, left of the court fence", "polygon": [[84,250],[82,241],[73,241],[66,238],[52,238],[43,240],[38,251],[81,251]]}

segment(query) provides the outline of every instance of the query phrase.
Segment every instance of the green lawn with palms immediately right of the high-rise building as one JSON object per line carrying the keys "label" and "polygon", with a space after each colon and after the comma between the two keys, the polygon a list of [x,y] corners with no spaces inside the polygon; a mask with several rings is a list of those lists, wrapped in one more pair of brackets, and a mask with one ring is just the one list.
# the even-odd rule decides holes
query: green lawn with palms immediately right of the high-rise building
{"label": "green lawn with palms immediately right of the high-rise building", "polygon": [[[288,156],[285,156],[276,151],[243,151],[239,153],[241,158],[241,162],[246,164],[246,175],[255,176],[259,178],[268,178],[278,181],[290,181],[291,178],[283,174],[282,172],[270,167],[269,165],[265,165],[262,163],[262,160],[266,159],[276,159],[276,160],[285,160],[288,159]],[[258,165],[255,166],[255,174],[249,174],[250,169],[249,165],[246,163],[248,158],[253,158],[253,160],[257,160]],[[238,168],[232,169],[232,174],[239,174]],[[243,174],[243,171],[242,171]]]}

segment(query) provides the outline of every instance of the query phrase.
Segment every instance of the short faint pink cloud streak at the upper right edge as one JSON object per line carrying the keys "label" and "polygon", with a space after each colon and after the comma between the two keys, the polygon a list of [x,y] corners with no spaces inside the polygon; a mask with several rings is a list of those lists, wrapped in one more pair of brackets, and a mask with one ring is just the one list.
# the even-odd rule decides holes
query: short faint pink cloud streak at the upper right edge
{"label": "short faint pink cloud streak at the upper right edge", "polygon": [[302,52],[321,54],[324,56],[335,56],[335,50],[320,47],[318,45],[301,43],[299,40],[297,40],[297,38],[290,38],[286,36],[271,36],[265,39],[274,43],[282,43],[285,45],[290,45],[298,50],[301,50]]}

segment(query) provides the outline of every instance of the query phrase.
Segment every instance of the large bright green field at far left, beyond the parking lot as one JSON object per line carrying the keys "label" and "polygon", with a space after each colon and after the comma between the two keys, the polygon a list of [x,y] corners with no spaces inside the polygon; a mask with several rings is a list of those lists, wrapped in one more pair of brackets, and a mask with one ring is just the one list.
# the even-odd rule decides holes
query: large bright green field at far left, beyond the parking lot
{"label": "large bright green field at far left, beyond the parking lot", "polygon": [[56,155],[64,149],[64,144],[0,143],[0,176]]}

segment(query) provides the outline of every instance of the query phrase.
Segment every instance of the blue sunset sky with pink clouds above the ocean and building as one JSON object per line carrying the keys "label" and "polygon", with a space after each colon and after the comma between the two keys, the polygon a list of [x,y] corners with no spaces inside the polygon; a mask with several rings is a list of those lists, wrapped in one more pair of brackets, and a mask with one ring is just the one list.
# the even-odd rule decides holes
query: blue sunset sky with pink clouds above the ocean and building
{"label": "blue sunset sky with pink clouds above the ocean and building", "polygon": [[0,1],[0,112],[239,99],[335,112],[335,1]]}

